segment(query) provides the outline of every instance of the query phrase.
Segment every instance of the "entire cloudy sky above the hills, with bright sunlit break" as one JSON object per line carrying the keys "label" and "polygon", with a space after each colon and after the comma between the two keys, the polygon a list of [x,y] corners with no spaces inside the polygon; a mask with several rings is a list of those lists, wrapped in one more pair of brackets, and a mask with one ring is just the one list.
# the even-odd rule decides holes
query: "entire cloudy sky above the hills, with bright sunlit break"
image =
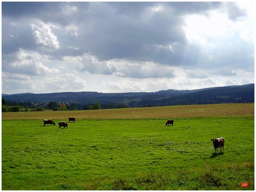
{"label": "entire cloudy sky above the hills, with bright sunlit break", "polygon": [[253,2],[2,2],[2,93],[254,83]]}

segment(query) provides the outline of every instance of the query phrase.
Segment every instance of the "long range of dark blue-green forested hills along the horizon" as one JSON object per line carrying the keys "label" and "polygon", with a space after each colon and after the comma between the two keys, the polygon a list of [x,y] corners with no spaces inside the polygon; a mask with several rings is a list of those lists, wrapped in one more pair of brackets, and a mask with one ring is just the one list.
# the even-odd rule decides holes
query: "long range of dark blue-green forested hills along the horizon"
{"label": "long range of dark blue-green forested hills along the horizon", "polygon": [[86,105],[99,102],[101,105],[126,104],[129,107],[194,105],[214,103],[252,103],[254,84],[205,88],[198,90],[162,90],[157,92],[57,92],[2,94],[2,99],[16,102],[56,103],[68,102]]}

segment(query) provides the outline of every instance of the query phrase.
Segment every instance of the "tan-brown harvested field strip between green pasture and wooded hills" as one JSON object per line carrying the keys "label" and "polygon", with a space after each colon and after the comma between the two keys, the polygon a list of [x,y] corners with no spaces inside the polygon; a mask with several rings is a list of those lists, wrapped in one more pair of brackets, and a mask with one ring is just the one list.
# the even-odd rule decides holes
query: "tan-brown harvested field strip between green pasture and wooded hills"
{"label": "tan-brown harvested field strip between green pasture and wooded hills", "polygon": [[121,109],[2,113],[2,120],[32,119],[168,119],[186,117],[231,117],[254,115],[254,103],[184,105]]}

